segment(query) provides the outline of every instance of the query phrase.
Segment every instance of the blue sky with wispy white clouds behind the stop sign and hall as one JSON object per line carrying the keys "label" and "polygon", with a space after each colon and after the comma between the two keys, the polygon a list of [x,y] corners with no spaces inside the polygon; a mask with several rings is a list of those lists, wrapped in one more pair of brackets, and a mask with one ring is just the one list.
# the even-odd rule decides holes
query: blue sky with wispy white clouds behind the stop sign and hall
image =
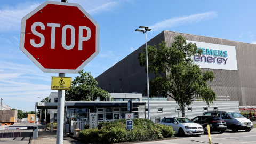
{"label": "blue sky with wispy white clouds behind the stop sign and hall", "polygon": [[[59,0],[58,2],[60,2]],[[50,95],[51,77],[20,49],[21,19],[42,0],[1,1],[0,98],[11,108],[34,111]],[[100,26],[100,52],[83,69],[95,78],[163,30],[256,44],[256,1],[238,0],[68,0],[78,3]],[[66,74],[76,77],[78,74]]]}

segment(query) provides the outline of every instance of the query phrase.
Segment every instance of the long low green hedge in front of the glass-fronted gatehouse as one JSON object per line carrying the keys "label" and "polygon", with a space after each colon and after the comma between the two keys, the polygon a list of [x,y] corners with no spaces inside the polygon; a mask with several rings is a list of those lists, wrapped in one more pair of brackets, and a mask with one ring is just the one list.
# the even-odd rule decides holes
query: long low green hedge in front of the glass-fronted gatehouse
{"label": "long low green hedge in front of the glass-fronted gatehouse", "polygon": [[134,118],[132,130],[126,130],[126,119],[120,119],[99,123],[96,129],[84,129],[79,133],[79,138],[87,143],[119,143],[161,139],[173,137],[173,134],[170,126],[155,125],[148,119]]}

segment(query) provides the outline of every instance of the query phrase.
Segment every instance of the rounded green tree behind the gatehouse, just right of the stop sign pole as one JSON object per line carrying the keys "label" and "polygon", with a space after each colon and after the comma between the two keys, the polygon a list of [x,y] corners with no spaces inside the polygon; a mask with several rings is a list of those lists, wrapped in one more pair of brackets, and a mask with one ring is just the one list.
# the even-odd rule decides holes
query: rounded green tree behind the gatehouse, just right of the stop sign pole
{"label": "rounded green tree behind the gatehouse, just right of the stop sign pole", "polygon": [[83,72],[83,69],[78,73],[80,76],[72,81],[72,90],[66,91],[65,100],[93,101],[97,97],[100,97],[100,100],[110,97],[107,91],[96,86],[98,82],[91,76],[91,73]]}

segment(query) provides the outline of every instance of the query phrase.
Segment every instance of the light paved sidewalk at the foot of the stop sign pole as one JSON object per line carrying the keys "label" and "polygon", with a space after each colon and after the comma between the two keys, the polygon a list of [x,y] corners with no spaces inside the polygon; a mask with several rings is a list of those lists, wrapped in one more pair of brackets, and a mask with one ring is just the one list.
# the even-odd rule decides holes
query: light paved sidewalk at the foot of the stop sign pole
{"label": "light paved sidewalk at the foot of the stop sign pole", "polygon": [[[56,130],[51,132],[46,130],[46,132],[39,132],[38,139],[31,139],[32,144],[55,144],[56,143]],[[82,143],[76,139],[70,138],[69,134],[63,135],[63,144],[65,143]]]}

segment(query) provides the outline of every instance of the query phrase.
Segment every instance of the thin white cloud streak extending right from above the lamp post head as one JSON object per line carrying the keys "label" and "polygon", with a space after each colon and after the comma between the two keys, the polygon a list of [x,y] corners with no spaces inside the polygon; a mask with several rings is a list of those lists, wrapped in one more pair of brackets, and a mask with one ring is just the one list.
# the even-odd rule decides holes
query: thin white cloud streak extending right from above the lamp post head
{"label": "thin white cloud streak extending right from above the lamp post head", "polygon": [[155,23],[153,26],[149,26],[152,31],[161,31],[166,28],[172,28],[182,25],[189,25],[193,23],[198,23],[206,20],[210,20],[217,17],[216,12],[206,12],[206,13],[199,13],[189,16],[183,16],[183,17],[176,17],[167,19],[161,22]]}

